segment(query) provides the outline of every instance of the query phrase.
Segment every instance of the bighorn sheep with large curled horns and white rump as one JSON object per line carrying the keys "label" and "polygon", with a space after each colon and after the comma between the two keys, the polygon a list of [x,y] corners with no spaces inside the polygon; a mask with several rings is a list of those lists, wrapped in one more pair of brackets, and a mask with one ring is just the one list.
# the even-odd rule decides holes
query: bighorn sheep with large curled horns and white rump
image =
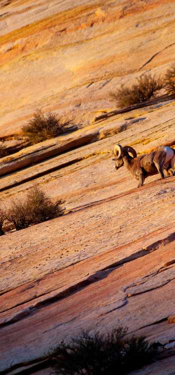
{"label": "bighorn sheep with large curled horns and white rump", "polygon": [[[132,156],[129,155],[130,152]],[[137,156],[136,151],[130,146],[121,147],[116,144],[113,147],[115,156],[113,168],[117,170],[122,165],[139,180],[137,187],[142,186],[144,179],[153,174],[159,173],[161,179],[164,178],[164,167],[170,174],[174,174],[175,150],[168,146],[160,146],[155,151],[146,155]]]}

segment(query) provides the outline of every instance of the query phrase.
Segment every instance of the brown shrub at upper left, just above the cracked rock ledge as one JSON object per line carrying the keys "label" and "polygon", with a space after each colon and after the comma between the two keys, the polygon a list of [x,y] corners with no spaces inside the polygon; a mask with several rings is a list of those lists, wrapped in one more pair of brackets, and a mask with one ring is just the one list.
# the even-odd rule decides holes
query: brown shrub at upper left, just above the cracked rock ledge
{"label": "brown shrub at upper left, just above the cracked rock ledge", "polygon": [[30,144],[39,143],[66,132],[70,125],[73,126],[72,121],[72,118],[63,121],[54,113],[48,112],[44,115],[41,110],[36,110],[33,117],[22,127],[22,135]]}

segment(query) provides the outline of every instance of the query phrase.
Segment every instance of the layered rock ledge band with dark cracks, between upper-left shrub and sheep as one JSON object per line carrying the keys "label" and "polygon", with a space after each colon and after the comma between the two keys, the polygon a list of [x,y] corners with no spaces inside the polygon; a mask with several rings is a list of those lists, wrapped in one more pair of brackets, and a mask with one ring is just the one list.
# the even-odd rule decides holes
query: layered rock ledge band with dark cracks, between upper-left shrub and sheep
{"label": "layered rock ledge band with dark cracks, between upper-left shrub and sheep", "polygon": [[[171,106],[169,107],[165,105],[164,111],[160,110],[159,106],[155,106],[155,108],[152,109],[154,109],[155,112],[153,115],[152,112],[150,112],[150,108],[143,109],[144,116],[140,116],[140,112],[134,110],[134,116],[136,117],[134,119],[127,119],[123,121],[124,118],[122,114],[119,117],[117,116],[114,118],[109,118],[103,122],[92,125],[87,124],[83,129],[78,129],[70,134],[62,134],[54,139],[49,139],[33,146],[26,147],[13,155],[3,157],[1,159],[0,175],[35,164],[35,172],[33,172],[32,167],[28,170],[28,172],[31,170],[29,176],[25,176],[25,178],[23,177],[21,179],[18,178],[18,175],[16,175],[16,182],[14,182],[14,177],[11,176],[9,187],[12,187],[17,182],[24,182],[25,180],[29,179],[29,177],[31,178],[31,175],[36,178],[39,175],[48,173],[49,168],[50,171],[55,170],[56,159],[53,159],[54,155],[61,154],[61,156],[58,157],[58,161],[63,167],[67,164],[75,163],[78,160],[81,160],[81,157],[89,157],[92,155],[92,152],[100,153],[101,147],[104,147],[105,150],[111,152],[111,136],[112,142],[118,143],[124,141],[125,144],[133,146],[138,154],[149,152],[160,145],[175,144],[174,123],[171,119]],[[124,114],[124,116],[125,115],[127,114]],[[169,121],[167,121],[167,118],[169,118]],[[154,122],[154,130],[151,126],[152,122]],[[168,124],[164,125],[164,122],[168,122]],[[142,128],[141,138],[140,126]],[[103,139],[108,137],[109,139]],[[96,143],[96,140],[98,139],[101,139],[101,141]],[[84,144],[94,141],[95,144],[92,147],[89,147],[89,145],[84,146]],[[74,152],[70,152],[70,150],[78,148],[79,146],[84,146],[84,155],[79,149],[78,151],[75,150]],[[89,153],[87,153],[87,150]],[[68,152],[62,155],[62,152],[65,151]],[[70,156],[70,154],[74,157],[74,159],[72,156]],[[50,157],[51,160],[49,161]],[[40,168],[38,162],[45,159],[46,162],[41,164],[43,167]],[[60,166],[58,166],[57,169],[58,168],[60,168]],[[23,174],[26,174],[26,170],[23,171]],[[0,189],[4,188],[5,186],[3,184],[0,185]]]}

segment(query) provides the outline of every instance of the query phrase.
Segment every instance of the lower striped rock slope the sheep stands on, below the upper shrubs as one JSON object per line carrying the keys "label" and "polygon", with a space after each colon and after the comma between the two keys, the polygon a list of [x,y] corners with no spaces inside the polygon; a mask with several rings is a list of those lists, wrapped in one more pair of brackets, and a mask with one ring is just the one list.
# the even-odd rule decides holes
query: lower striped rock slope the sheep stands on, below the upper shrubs
{"label": "lower striped rock slope the sheep stands on, below the upper shrubs", "polygon": [[[127,114],[101,120],[72,134],[96,132],[98,140],[51,158],[44,159],[46,147],[63,139],[68,147],[70,135],[2,159],[16,163],[0,177],[3,205],[23,199],[34,182],[53,200],[65,199],[66,213],[1,236],[1,371],[42,360],[81,327],[122,325],[163,345],[173,340],[175,177],[154,175],[137,189],[124,167],[113,170],[111,152],[116,143],[138,154],[175,143],[173,106],[171,100],[133,110],[130,120]],[[36,154],[42,162],[35,163]],[[18,169],[15,160],[28,155],[34,165]]]}

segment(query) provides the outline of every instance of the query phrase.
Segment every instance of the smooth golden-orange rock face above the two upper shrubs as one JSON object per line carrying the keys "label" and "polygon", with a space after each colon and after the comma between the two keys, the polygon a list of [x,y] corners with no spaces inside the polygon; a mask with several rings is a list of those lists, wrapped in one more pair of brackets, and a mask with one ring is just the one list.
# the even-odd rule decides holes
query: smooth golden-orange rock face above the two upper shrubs
{"label": "smooth golden-orange rock face above the two upper shrubs", "polygon": [[171,0],[1,1],[0,136],[34,109],[84,123],[115,107],[109,91],[175,59]]}

